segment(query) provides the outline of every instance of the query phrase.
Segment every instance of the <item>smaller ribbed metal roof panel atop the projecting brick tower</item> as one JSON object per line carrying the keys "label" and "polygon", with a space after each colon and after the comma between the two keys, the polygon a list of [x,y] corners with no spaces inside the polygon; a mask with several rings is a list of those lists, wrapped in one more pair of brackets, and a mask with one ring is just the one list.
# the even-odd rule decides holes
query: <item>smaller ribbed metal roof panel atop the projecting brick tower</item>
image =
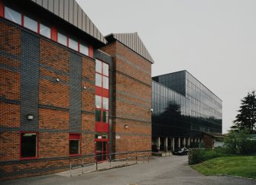
{"label": "smaller ribbed metal roof panel atop the projecting brick tower", "polygon": [[149,62],[154,63],[154,60],[144,46],[144,43],[141,41],[141,38],[138,37],[138,33],[112,33],[105,37],[105,39],[109,41],[113,38],[134,50],[134,52],[143,56]]}

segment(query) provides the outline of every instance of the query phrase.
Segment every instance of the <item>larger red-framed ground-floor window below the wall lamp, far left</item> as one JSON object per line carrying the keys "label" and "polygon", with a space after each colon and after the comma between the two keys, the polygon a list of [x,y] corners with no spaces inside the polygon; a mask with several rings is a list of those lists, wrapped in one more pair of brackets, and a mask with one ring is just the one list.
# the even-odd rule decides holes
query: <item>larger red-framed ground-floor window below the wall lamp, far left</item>
{"label": "larger red-framed ground-floor window below the wall lamp, far left", "polygon": [[21,132],[21,158],[37,158],[37,132]]}

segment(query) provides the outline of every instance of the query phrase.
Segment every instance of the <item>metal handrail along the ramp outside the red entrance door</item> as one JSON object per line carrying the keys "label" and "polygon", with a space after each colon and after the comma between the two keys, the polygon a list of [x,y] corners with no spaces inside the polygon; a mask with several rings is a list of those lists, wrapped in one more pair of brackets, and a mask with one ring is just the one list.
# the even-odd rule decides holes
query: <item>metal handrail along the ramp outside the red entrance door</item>
{"label": "metal handrail along the ramp outside the red entrance door", "polygon": [[[132,157],[131,154],[135,154],[135,157]],[[143,154],[147,154],[147,156],[138,156],[138,154],[143,155]],[[112,161],[126,161],[126,165],[128,165],[128,160],[129,159],[135,159],[136,164],[138,163],[138,159],[144,159],[147,158],[147,161],[150,161],[150,157],[151,157],[151,151],[131,151],[131,152],[115,152],[115,153],[110,153],[110,154],[103,154],[103,155],[91,155],[91,156],[86,156],[86,157],[82,157],[82,158],[72,158],[70,159],[70,177],[72,177],[72,170],[76,169],[78,167],[81,167],[81,174],[83,174],[83,167],[86,166],[91,166],[96,164],[96,171],[98,171],[98,164],[103,163],[104,161],[98,161],[97,157],[102,157],[102,156],[109,156],[109,159],[107,161],[109,161],[109,167],[111,167],[111,162]],[[112,159],[113,155],[126,155],[126,158],[114,158]],[[129,157],[131,156],[131,157]],[[94,158],[93,162],[91,163],[85,163],[86,159],[89,158]],[[72,163],[75,161],[82,161],[82,163],[80,165],[76,165],[76,167],[73,167]]]}

